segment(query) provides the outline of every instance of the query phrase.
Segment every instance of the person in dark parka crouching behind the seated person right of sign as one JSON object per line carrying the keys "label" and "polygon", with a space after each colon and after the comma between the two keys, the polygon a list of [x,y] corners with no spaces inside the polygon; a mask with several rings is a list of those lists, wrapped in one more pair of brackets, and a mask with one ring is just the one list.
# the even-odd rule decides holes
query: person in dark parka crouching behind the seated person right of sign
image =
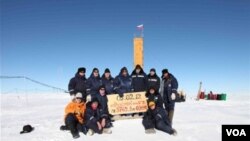
{"label": "person in dark parka crouching behind the seated person right of sign", "polygon": [[145,96],[146,96],[148,102],[154,101],[156,104],[156,107],[163,108],[163,99],[162,99],[161,95],[158,93],[158,91],[156,91],[155,87],[151,86],[148,89]]}

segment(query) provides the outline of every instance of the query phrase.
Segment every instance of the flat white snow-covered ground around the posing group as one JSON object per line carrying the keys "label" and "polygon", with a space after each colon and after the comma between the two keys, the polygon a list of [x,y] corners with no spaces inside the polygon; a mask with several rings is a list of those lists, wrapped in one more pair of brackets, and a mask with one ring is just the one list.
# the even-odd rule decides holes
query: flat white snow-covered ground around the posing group
{"label": "flat white snow-covered ground around the posing group", "polygon": [[[59,130],[63,124],[68,94],[1,94],[1,141],[69,141],[69,132]],[[20,135],[22,126],[35,130]],[[173,127],[177,136],[161,131],[147,135],[141,119],[114,122],[113,134],[85,136],[85,141],[219,141],[222,124],[250,124],[250,95],[228,95],[227,101],[176,103]]]}

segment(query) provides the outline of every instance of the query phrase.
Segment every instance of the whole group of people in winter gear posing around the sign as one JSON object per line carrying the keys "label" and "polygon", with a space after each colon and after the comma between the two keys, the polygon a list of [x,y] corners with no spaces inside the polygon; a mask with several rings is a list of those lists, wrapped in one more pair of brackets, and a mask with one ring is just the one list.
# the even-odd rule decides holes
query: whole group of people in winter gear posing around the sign
{"label": "whole group of people in winter gear posing around the sign", "polygon": [[178,82],[168,72],[162,70],[161,78],[154,68],[146,74],[140,65],[136,65],[131,75],[126,67],[113,78],[108,68],[102,76],[94,68],[90,77],[85,76],[86,69],[78,68],[75,77],[68,85],[72,101],[65,108],[65,125],[61,130],[70,130],[73,138],[79,132],[93,135],[94,133],[111,133],[111,115],[107,106],[107,95],[146,91],[148,110],[144,113],[142,124],[146,133],[155,133],[158,129],[175,135],[172,128],[175,99]]}

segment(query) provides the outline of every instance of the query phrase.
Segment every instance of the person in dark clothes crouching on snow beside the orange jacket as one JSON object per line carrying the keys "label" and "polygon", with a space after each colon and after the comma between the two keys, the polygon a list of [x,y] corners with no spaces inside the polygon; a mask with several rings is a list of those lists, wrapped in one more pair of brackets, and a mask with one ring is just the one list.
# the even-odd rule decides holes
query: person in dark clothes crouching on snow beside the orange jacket
{"label": "person in dark clothes crouching on snow beside the orange jacket", "polygon": [[101,104],[97,98],[93,98],[91,102],[87,103],[87,111],[85,115],[86,125],[89,128],[88,135],[93,135],[94,133],[102,134],[111,134],[112,131],[108,125],[108,114],[106,111],[103,111]]}

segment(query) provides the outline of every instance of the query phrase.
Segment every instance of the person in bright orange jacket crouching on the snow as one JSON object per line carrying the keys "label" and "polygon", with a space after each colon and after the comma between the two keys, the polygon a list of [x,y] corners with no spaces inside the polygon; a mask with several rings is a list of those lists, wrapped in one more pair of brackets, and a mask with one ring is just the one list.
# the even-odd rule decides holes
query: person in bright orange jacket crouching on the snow
{"label": "person in bright orange jacket crouching on the snow", "polygon": [[77,93],[75,98],[65,108],[65,124],[61,126],[61,130],[70,130],[74,139],[79,138],[79,131],[87,133],[87,128],[84,125],[84,115],[86,105],[83,102],[82,93]]}

